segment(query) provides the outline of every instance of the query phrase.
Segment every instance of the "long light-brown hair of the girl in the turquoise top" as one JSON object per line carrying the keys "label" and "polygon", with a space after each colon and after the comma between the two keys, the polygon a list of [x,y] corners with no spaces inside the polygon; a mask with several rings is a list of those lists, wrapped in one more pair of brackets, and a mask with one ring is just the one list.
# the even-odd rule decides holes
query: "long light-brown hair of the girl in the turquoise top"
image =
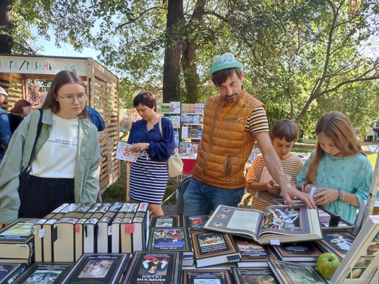
{"label": "long light-brown hair of the girl in the turquoise top", "polygon": [[[350,119],[340,111],[331,111],[321,116],[316,126],[316,134],[319,133],[324,133],[330,138],[335,147],[340,149],[345,156],[352,156],[357,153],[366,156],[366,153],[361,149],[361,142],[355,136]],[[307,182],[314,184],[317,165],[319,165],[322,156],[324,156],[324,150],[321,149],[320,143],[317,142],[316,155],[310,163],[307,175],[305,175]]]}

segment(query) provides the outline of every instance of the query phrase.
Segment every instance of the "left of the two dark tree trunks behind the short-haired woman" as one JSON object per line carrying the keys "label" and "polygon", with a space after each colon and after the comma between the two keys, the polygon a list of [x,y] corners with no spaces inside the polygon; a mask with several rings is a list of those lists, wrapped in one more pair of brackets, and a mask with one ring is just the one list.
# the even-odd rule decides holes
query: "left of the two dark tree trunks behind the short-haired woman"
{"label": "left of the two dark tree trunks behind the short-haired woman", "polygon": [[[183,0],[168,0],[167,25],[168,36],[178,27],[183,18]],[[166,41],[169,42],[169,41]],[[163,99],[164,102],[180,102],[180,56],[179,44],[167,46],[164,52]]]}

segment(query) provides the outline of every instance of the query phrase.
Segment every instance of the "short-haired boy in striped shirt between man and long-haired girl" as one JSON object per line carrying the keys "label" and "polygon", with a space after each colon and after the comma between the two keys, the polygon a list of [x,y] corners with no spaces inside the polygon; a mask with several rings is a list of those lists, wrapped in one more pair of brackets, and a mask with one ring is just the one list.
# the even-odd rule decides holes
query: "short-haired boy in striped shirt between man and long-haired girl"
{"label": "short-haired boy in striped shirt between man and long-haired girl", "polygon": [[[270,133],[270,140],[274,150],[279,156],[284,173],[291,184],[296,185],[296,177],[302,168],[302,160],[298,155],[292,154],[293,144],[298,141],[299,128],[296,123],[288,119],[282,119],[274,123]],[[254,193],[251,191],[268,191],[271,194],[279,194],[280,187],[271,176],[265,177],[267,172],[266,163],[262,154],[255,157],[251,167],[246,175],[246,194],[242,198],[242,205],[251,205],[254,207]],[[264,173],[262,177],[262,173]],[[267,174],[266,174],[267,175]],[[263,180],[262,180],[263,178]],[[269,205],[269,204],[267,204]]]}

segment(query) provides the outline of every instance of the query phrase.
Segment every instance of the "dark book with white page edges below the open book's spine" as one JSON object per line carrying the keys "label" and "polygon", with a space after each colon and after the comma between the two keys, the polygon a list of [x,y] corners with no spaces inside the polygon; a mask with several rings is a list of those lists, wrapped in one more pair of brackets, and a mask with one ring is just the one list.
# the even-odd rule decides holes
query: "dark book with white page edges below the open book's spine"
{"label": "dark book with white page edges below the open book's spine", "polygon": [[249,238],[239,236],[233,238],[241,252],[241,261],[237,262],[238,267],[268,267],[269,259],[278,259],[270,245],[260,245]]}

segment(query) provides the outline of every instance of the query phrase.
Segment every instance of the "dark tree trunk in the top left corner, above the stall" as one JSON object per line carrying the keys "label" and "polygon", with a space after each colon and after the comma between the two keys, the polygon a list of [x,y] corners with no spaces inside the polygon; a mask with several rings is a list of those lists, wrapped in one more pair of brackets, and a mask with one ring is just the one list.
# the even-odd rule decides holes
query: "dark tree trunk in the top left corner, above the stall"
{"label": "dark tree trunk in the top left corner, above the stall", "polygon": [[0,54],[11,54],[13,39],[12,27],[12,0],[0,1]]}

